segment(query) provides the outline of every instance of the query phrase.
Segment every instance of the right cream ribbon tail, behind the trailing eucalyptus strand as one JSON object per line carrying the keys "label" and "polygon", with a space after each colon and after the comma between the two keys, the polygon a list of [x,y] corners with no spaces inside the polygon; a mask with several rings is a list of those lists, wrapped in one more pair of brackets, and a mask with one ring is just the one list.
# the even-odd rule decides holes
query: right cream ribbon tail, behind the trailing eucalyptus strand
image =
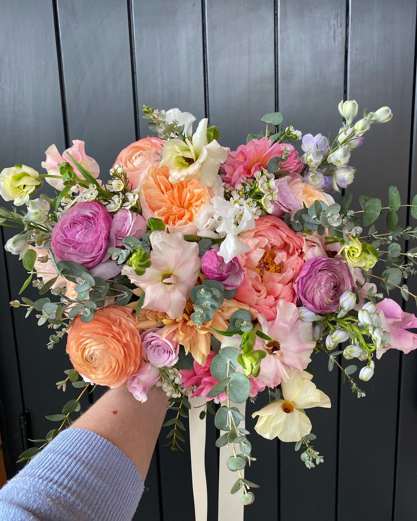
{"label": "right cream ribbon tail, behind the trailing eucalyptus strand", "polygon": [[[244,416],[246,411],[246,402],[230,403],[231,407],[237,407],[239,412]],[[241,421],[239,427],[245,428],[244,420]],[[224,431],[220,431],[220,436]],[[220,460],[218,471],[218,521],[243,521],[244,505],[241,501],[241,494],[230,494],[230,489],[235,485],[238,479],[238,473],[232,472],[227,468],[227,460],[233,455],[231,444],[220,448]],[[244,469],[240,471],[244,477]]]}

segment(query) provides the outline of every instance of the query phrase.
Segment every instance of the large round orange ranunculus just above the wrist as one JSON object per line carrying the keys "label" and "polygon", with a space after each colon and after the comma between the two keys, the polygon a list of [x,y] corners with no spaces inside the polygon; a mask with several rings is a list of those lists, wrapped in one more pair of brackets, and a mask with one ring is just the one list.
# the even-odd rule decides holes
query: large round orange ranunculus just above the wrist
{"label": "large round orange ranunculus just above the wrist", "polygon": [[110,306],[68,330],[67,353],[77,371],[101,386],[120,387],[139,368],[142,343],[131,309]]}

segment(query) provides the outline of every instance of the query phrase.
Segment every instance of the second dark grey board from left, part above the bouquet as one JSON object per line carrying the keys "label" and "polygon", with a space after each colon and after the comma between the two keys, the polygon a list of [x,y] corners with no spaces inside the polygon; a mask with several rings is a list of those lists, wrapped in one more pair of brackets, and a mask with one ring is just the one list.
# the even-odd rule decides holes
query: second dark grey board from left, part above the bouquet
{"label": "second dark grey board from left, part above the bouquet", "polygon": [[69,138],[85,141],[101,179],[135,140],[126,0],[58,0]]}

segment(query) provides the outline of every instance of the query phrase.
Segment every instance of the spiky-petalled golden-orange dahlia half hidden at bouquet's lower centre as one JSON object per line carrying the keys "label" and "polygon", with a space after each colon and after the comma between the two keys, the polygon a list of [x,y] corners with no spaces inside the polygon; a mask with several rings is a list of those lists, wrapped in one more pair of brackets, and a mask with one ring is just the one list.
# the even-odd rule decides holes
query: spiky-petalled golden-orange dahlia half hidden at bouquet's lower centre
{"label": "spiky-petalled golden-orange dahlia half hidden at bouquet's lower centre", "polygon": [[248,309],[252,317],[255,317],[253,309],[249,306],[237,302],[235,300],[225,300],[222,307],[214,312],[213,320],[204,322],[203,327],[198,329],[194,322],[190,320],[193,312],[192,302],[188,301],[182,318],[169,318],[165,313],[150,311],[149,309],[141,309],[138,316],[138,327],[140,330],[149,329],[163,325],[161,335],[163,338],[174,331],[173,341],[182,344],[186,353],[191,354],[196,362],[204,365],[208,353],[210,353],[210,344],[212,334],[217,340],[223,340],[223,335],[216,333],[212,328],[219,331],[226,331],[229,325],[227,319],[238,309]]}

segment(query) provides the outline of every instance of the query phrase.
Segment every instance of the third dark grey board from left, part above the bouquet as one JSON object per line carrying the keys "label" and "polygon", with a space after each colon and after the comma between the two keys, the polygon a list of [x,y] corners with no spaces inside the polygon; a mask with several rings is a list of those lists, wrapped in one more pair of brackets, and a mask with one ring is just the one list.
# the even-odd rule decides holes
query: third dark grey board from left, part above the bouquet
{"label": "third dark grey board from left, part above the bouquet", "polygon": [[[178,107],[204,117],[202,13],[200,2],[133,0],[138,110]],[[149,134],[140,117],[140,134]]]}

